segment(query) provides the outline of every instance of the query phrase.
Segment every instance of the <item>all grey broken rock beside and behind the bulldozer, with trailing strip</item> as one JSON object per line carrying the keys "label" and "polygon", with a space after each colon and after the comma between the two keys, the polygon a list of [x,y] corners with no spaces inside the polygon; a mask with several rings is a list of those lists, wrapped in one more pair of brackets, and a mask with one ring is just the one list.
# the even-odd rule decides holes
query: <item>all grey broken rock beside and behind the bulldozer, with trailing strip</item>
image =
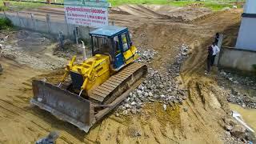
{"label": "all grey broken rock beside and behind the bulldozer, with trailing strip", "polygon": [[[119,114],[138,114],[146,102],[161,102],[163,110],[167,106],[182,104],[187,98],[186,90],[178,89],[178,82],[175,76],[179,74],[182,61],[187,56],[188,46],[182,45],[181,52],[175,62],[169,66],[170,71],[162,74],[158,70],[149,68],[146,80],[136,90],[130,93],[129,97],[118,107]],[[140,62],[149,62],[153,59],[154,50],[146,50],[142,53]]]}

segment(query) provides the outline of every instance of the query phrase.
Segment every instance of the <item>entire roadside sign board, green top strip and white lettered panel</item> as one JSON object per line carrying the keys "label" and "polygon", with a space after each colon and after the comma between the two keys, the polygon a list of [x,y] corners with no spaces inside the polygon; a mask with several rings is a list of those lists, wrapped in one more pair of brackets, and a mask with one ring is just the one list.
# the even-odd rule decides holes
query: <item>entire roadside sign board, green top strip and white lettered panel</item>
{"label": "entire roadside sign board, green top strip and white lettered panel", "polygon": [[65,0],[66,22],[78,26],[108,26],[106,0]]}

